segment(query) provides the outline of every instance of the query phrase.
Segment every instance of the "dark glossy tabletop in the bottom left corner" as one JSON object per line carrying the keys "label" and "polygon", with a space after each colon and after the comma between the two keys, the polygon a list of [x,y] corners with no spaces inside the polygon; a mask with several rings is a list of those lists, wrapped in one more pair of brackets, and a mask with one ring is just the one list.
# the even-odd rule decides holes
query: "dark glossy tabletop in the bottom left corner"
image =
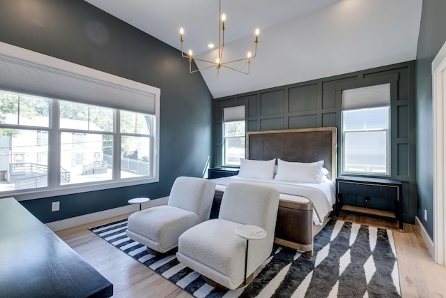
{"label": "dark glossy tabletop in the bottom left corner", "polygon": [[112,295],[112,283],[19,202],[0,199],[0,297]]}

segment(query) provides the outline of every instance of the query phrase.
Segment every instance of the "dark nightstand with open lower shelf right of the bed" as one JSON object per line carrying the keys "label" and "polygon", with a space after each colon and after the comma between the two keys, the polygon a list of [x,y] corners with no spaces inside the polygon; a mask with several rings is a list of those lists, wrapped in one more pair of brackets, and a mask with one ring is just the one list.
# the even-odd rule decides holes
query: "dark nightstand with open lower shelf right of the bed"
{"label": "dark nightstand with open lower shelf right of the bed", "polygon": [[[368,207],[344,204],[343,195],[357,195],[364,197],[365,202],[378,198],[392,200],[392,209],[372,209]],[[339,212],[376,216],[399,221],[399,230],[403,230],[403,195],[401,181],[392,179],[347,177],[336,179],[336,216]]]}

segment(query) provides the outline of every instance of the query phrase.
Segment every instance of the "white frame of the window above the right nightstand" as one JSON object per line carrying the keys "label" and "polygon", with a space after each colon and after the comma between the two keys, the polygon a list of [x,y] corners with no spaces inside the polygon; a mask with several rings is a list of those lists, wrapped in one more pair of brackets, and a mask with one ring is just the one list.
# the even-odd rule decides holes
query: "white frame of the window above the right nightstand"
{"label": "white frame of the window above the right nightstand", "polygon": [[[380,176],[380,177],[390,177],[391,175],[391,163],[390,163],[390,124],[391,124],[391,117],[390,117],[390,96],[391,96],[391,85],[390,83],[385,83],[385,85],[388,85],[388,90],[389,90],[389,98],[388,98],[388,105],[384,105],[384,103],[379,103],[380,99],[378,98],[377,101],[378,103],[374,103],[374,100],[371,101],[364,101],[364,105],[362,106],[357,106],[353,109],[349,109],[347,111],[364,111],[364,110],[371,110],[374,109],[376,107],[387,107],[387,128],[376,128],[376,129],[357,129],[357,130],[350,130],[350,131],[345,131],[344,129],[344,112],[347,112],[344,110],[344,103],[343,103],[343,108],[341,110],[341,144],[343,144],[341,146],[341,154],[342,154],[342,165],[341,165],[341,172],[342,174],[359,174],[359,175],[364,175],[364,176]],[[367,86],[367,87],[374,87],[374,85],[371,86]],[[367,87],[359,87],[359,88],[351,88],[351,89],[361,89],[361,88],[367,88]],[[376,87],[378,87],[376,85]],[[345,90],[349,90],[349,89],[344,89],[343,92]],[[344,96],[342,96],[343,100],[344,100]],[[387,99],[386,99],[387,100]],[[384,100],[384,101],[386,101]],[[346,140],[346,135],[348,133],[367,133],[367,132],[378,132],[378,131],[383,131],[386,134],[386,144],[385,144],[385,148],[386,148],[386,152],[385,152],[385,158],[386,158],[386,170],[385,172],[374,172],[374,171],[354,171],[354,170],[346,170],[346,146],[344,146],[344,142]]]}

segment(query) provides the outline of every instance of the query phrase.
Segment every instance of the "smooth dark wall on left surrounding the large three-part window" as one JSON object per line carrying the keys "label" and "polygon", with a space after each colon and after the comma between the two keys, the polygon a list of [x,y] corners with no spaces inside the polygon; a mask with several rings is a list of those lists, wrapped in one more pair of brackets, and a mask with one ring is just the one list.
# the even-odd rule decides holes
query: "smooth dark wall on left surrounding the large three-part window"
{"label": "smooth dark wall on left surrounding the large three-part window", "polygon": [[[161,89],[160,182],[22,201],[40,221],[160,198],[176,177],[203,176],[213,98],[178,50],[81,0],[0,0],[0,41]],[[61,211],[51,212],[54,200]]]}

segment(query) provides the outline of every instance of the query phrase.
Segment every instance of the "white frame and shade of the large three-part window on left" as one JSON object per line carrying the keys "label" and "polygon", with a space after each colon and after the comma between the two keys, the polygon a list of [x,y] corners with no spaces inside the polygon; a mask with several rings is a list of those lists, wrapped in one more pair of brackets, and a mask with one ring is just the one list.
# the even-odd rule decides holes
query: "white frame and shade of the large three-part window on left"
{"label": "white frame and shade of the large three-part window on left", "polygon": [[[5,75],[1,75],[1,73]],[[26,73],[29,73],[31,77],[23,77],[23,74],[26,75]],[[32,77],[32,75],[36,75],[36,73],[46,73],[47,76],[38,75]],[[22,80],[17,80],[17,77],[20,76],[22,76]],[[40,77],[40,79],[38,79],[38,77]],[[54,84],[54,80],[52,84],[51,82],[43,82],[46,77],[56,77],[60,79],[60,81],[57,80],[58,82],[70,82],[70,84],[73,84],[72,86],[75,87],[73,87],[72,90],[61,91],[66,88],[60,88],[60,84]],[[89,96],[90,89],[79,88],[79,86],[82,86],[83,84],[90,89],[91,87],[98,87],[97,89],[94,89],[96,93],[93,94],[93,92],[90,92],[91,97],[85,97]],[[64,100],[75,101],[78,103],[102,105],[105,107],[140,113],[146,112],[141,111],[141,109],[142,107],[146,108],[146,105],[144,104],[150,102],[151,106],[149,110],[155,116],[152,135],[153,163],[151,172],[153,175],[151,177],[113,179],[92,184],[72,184],[66,186],[58,186],[54,180],[50,180],[49,184],[51,186],[47,188],[33,188],[10,193],[1,193],[0,198],[14,196],[14,198],[19,201],[32,200],[55,195],[98,191],[107,188],[149,184],[159,181],[161,93],[159,88],[0,42],[0,89],[14,90],[23,94],[35,94],[36,96],[46,96],[49,98],[63,98]],[[66,93],[60,94],[60,92]],[[82,94],[82,96],[79,96],[79,94]],[[76,96],[79,96],[79,98],[76,98]],[[122,100],[122,98],[132,98],[134,100]],[[141,105],[141,103],[143,105]],[[52,126],[56,127],[58,119],[53,117],[51,121]],[[49,139],[52,140],[54,138],[57,138],[57,132],[54,133],[53,129],[53,133],[50,133]],[[115,140],[114,142],[118,142],[118,140]],[[54,148],[54,145],[49,148],[50,167],[58,168],[59,154],[54,154],[58,151],[59,148]],[[52,177],[51,179],[56,179],[56,181],[58,181],[58,178]]]}

